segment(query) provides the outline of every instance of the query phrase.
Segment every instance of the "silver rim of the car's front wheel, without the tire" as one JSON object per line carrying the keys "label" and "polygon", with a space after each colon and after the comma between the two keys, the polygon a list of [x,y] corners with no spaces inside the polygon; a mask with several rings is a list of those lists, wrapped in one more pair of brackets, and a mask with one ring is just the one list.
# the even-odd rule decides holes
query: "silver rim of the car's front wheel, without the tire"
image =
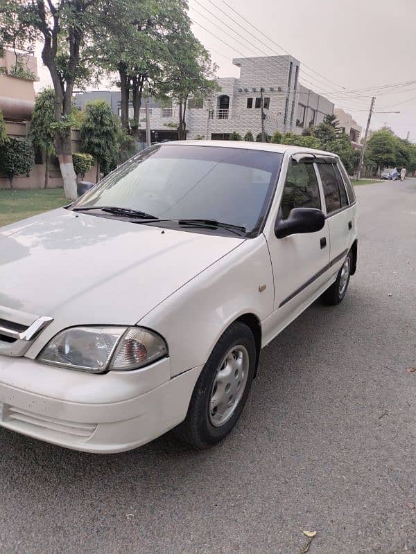
{"label": "silver rim of the car's front wheel, without the tire", "polygon": [[208,415],[214,427],[232,417],[241,402],[248,380],[250,358],[242,344],[233,346],[221,360],[209,395]]}

